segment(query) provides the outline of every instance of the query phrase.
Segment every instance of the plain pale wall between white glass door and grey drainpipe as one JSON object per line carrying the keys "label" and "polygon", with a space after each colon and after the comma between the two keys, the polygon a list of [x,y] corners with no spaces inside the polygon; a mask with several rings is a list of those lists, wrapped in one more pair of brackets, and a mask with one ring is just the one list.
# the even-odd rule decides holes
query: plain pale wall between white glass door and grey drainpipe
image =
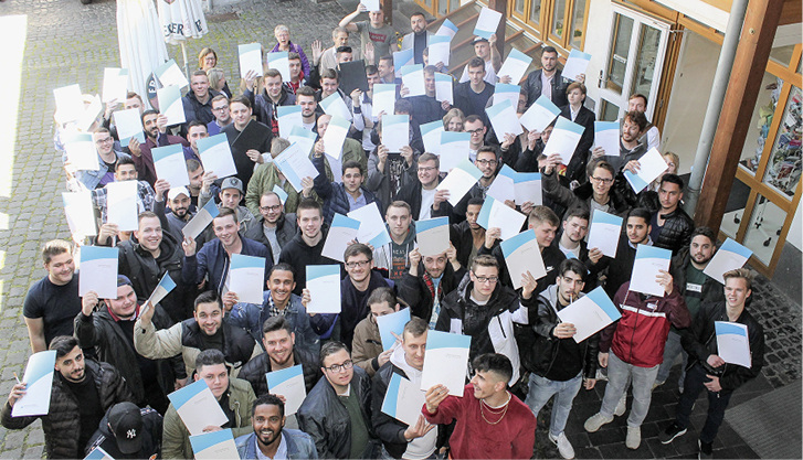
{"label": "plain pale wall between white glass door and grey drainpipe", "polygon": [[690,171],[714,84],[721,46],[691,31],[683,38],[675,81],[661,132],[662,151],[680,157],[680,173]]}

